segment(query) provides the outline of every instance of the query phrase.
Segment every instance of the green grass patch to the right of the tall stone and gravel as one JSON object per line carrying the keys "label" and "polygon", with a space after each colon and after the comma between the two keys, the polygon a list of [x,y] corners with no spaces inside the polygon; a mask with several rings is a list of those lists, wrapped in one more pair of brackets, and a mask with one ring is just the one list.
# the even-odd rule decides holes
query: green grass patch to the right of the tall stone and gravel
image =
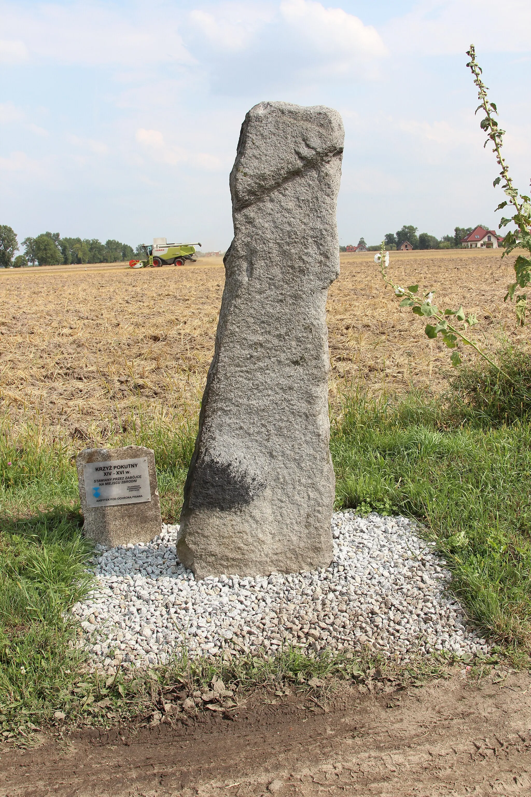
{"label": "green grass patch to the right of the tall stone and gravel", "polygon": [[338,507],[424,524],[474,622],[516,650],[531,617],[531,424],[448,426],[440,402],[347,397],[332,434]]}

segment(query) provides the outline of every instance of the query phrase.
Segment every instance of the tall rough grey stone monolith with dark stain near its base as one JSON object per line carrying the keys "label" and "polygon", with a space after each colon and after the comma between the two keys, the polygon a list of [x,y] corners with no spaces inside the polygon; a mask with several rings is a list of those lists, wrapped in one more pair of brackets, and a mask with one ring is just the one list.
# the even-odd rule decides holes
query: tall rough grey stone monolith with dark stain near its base
{"label": "tall rough grey stone monolith with dark stain near its base", "polygon": [[230,175],[234,238],[185,484],[178,555],[199,577],[332,559],[326,296],[339,273],[341,116],[255,105]]}

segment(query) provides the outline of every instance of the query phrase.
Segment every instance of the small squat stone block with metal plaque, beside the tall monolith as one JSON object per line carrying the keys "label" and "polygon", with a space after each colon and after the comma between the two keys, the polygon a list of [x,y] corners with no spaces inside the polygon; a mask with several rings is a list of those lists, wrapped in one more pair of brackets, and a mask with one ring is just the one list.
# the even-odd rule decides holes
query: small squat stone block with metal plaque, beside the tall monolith
{"label": "small squat stone block with metal plaque, beside the tall monolith", "polygon": [[162,531],[154,453],[143,446],[84,449],[76,458],[84,534],[114,548]]}

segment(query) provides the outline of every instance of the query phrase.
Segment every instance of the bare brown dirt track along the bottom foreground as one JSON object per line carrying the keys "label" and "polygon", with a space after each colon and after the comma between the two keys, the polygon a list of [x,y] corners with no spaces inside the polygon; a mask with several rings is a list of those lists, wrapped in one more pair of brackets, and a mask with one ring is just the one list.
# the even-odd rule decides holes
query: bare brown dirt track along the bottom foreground
{"label": "bare brown dirt track along the bottom foreground", "polygon": [[527,673],[500,683],[459,673],[378,696],[342,686],[325,712],[307,698],[262,697],[234,720],[77,732],[3,750],[0,797],[525,797],[530,687]]}

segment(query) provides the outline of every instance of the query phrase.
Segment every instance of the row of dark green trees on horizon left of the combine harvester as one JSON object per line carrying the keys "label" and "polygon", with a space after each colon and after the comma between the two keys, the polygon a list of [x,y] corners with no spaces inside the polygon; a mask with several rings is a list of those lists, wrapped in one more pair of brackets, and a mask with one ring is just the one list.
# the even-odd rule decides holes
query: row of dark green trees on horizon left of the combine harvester
{"label": "row of dark green trees on horizon left of the combine harvester", "polygon": [[135,250],[111,238],[102,244],[97,238],[61,238],[59,233],[45,232],[21,242],[12,227],[0,225],[0,266],[15,269],[27,265],[68,265],[70,263],[116,263],[131,260]]}

